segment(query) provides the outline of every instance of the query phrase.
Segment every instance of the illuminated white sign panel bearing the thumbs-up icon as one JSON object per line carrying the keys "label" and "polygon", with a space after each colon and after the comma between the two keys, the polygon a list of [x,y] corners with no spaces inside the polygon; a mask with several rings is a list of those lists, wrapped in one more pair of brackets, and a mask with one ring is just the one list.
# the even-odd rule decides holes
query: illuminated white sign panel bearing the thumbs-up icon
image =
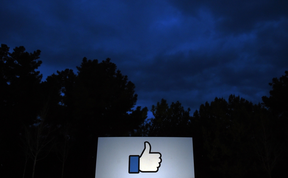
{"label": "illuminated white sign panel bearing the thumbs-up icon", "polygon": [[194,178],[192,138],[99,137],[95,178]]}

